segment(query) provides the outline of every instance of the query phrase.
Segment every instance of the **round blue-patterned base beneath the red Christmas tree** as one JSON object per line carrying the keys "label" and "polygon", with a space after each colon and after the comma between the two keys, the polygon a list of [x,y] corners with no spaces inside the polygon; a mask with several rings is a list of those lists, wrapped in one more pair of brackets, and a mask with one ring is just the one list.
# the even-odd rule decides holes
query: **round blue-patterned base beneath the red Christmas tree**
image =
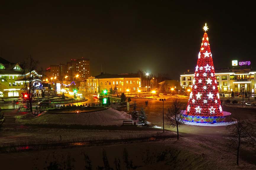
{"label": "round blue-patterned base beneath the red Christmas tree", "polygon": [[[186,111],[182,111],[186,112]],[[218,125],[228,125],[232,123],[231,119],[231,113],[230,112],[223,112],[223,116],[191,116],[183,114],[183,121],[185,124],[190,125],[212,125],[212,124],[218,124]]]}

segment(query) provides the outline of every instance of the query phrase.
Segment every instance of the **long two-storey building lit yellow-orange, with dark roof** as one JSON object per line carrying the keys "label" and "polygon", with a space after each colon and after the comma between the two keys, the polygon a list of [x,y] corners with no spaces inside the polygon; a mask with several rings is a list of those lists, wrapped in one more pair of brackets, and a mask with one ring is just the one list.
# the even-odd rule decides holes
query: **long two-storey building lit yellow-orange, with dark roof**
{"label": "long two-storey building lit yellow-orange, with dark roof", "polygon": [[141,88],[141,78],[136,74],[103,74],[91,76],[80,82],[79,91],[102,93],[110,88],[117,88],[118,93],[135,93]]}

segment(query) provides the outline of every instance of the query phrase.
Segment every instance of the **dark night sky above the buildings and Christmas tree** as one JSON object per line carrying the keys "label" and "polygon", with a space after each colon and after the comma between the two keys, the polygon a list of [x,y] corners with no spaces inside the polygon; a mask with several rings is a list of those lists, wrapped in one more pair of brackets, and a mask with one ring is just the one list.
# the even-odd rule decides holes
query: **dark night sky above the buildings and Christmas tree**
{"label": "dark night sky above the buildings and Christmas tree", "polygon": [[[91,73],[194,69],[207,22],[215,68],[255,57],[254,5],[239,1],[1,1],[1,56],[43,68],[89,58]],[[214,4],[215,3],[215,4]],[[105,70],[106,65],[106,70]]]}

